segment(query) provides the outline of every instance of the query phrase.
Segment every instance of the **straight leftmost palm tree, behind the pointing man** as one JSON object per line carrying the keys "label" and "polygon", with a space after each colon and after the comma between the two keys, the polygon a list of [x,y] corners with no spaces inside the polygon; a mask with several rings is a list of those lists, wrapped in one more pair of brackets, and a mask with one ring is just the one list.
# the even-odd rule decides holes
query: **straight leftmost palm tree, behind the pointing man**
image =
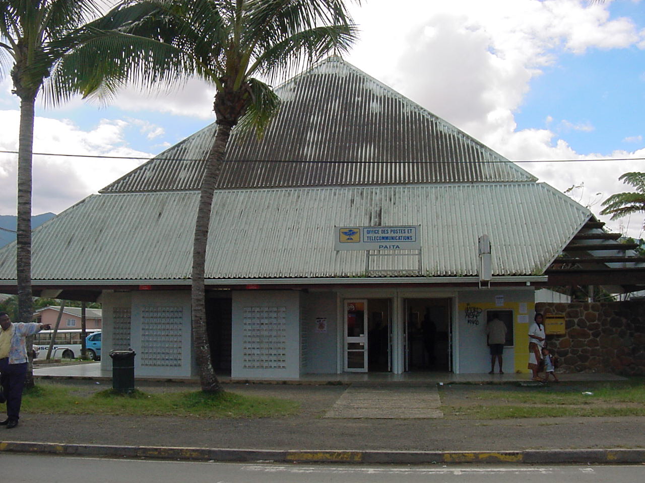
{"label": "straight leftmost palm tree, behind the pointing man", "polygon": [[[99,83],[107,92],[117,86],[110,81],[110,76],[117,73],[101,71],[94,64],[88,64],[92,70],[78,70],[74,75],[68,71],[64,82],[50,82],[50,75],[63,59],[72,59],[68,66],[77,65],[73,57],[81,46],[91,45],[99,53],[128,55],[136,52],[137,44],[151,43],[149,39],[137,39],[117,30],[101,30],[101,23],[94,20],[101,17],[99,3],[95,0],[0,0],[0,66],[3,67],[0,75],[5,68],[10,70],[13,92],[20,99],[16,254],[19,321],[30,321],[33,314],[31,211],[35,100],[47,85],[50,90],[46,91],[46,97],[52,104],[75,93],[93,91]],[[163,53],[157,53],[157,57],[161,59]],[[163,64],[159,59],[158,63]],[[177,63],[176,57],[173,63]]]}

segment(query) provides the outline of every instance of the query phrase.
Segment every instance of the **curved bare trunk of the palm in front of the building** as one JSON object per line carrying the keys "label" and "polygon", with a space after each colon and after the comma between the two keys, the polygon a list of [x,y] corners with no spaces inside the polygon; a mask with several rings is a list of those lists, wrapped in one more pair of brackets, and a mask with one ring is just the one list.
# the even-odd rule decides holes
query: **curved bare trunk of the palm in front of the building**
{"label": "curved bare trunk of the palm in front of the building", "polygon": [[206,158],[206,170],[199,194],[197,220],[195,221],[195,238],[193,243],[192,271],[192,328],[193,346],[199,382],[204,392],[220,392],[221,384],[217,380],[210,357],[208,332],[206,331],[206,299],[204,290],[204,270],[206,265],[206,245],[208,244],[208,225],[213,205],[213,192],[219,173],[222,170],[224,152],[231,135],[229,124],[218,124],[217,134]]}

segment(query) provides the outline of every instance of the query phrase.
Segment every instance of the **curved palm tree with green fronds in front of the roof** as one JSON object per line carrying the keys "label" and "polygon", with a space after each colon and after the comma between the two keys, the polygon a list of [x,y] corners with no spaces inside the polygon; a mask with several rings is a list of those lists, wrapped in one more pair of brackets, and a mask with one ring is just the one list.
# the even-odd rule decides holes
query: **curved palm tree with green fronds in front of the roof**
{"label": "curved palm tree with green fronds in front of the roof", "polygon": [[121,14],[135,8],[150,10],[128,32],[190,55],[191,73],[216,90],[217,133],[205,160],[195,221],[192,330],[201,388],[219,392],[206,333],[204,264],[213,192],[231,129],[243,120],[261,135],[277,113],[277,95],[257,77],[275,81],[332,51],[344,52],[357,29],[343,0],[143,0],[122,5]]}

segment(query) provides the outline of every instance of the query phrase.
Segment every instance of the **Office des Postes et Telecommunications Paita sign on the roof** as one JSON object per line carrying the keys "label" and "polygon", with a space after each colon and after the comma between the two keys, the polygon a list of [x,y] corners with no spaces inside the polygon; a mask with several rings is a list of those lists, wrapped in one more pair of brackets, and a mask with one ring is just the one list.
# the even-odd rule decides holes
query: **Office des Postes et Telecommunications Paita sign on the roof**
{"label": "Office des Postes et Telecommunications Paita sign on the roof", "polygon": [[334,227],[335,250],[419,250],[421,226]]}

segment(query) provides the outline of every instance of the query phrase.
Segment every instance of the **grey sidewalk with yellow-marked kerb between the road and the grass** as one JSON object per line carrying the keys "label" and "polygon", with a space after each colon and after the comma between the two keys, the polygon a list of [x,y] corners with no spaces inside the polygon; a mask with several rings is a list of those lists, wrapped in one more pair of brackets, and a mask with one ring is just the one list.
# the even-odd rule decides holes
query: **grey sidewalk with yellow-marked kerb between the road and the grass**
{"label": "grey sidewalk with yellow-marked kerb between the road and the grass", "polygon": [[[110,386],[108,381],[65,382]],[[573,384],[584,389],[583,382]],[[150,381],[137,381],[137,387],[144,392],[197,389]],[[479,387],[459,390],[468,393]],[[290,417],[259,419],[23,413],[17,428],[0,428],[0,451],[281,462],[645,462],[645,417],[546,419],[539,417],[539,409],[535,418],[495,421],[324,417],[355,386],[230,383],[225,388],[292,399],[302,410]],[[400,405],[397,395],[410,399],[416,392],[421,399],[432,399],[436,385],[428,384],[427,393],[422,386],[400,383],[375,389],[381,399]],[[369,397],[358,393],[363,395],[361,405],[369,408]]]}

